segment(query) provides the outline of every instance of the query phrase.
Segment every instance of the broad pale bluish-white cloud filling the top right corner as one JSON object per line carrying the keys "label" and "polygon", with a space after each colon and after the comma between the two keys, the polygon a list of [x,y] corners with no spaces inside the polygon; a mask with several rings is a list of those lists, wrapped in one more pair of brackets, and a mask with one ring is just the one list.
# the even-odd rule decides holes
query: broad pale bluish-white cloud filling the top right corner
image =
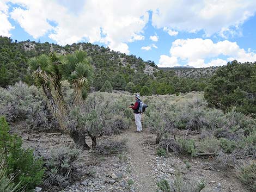
{"label": "broad pale bluish-white cloud filling the top right corner", "polygon": [[239,27],[255,11],[253,0],[161,0],[155,3],[152,21],[157,28],[169,27],[192,33],[204,30],[210,36],[224,28]]}

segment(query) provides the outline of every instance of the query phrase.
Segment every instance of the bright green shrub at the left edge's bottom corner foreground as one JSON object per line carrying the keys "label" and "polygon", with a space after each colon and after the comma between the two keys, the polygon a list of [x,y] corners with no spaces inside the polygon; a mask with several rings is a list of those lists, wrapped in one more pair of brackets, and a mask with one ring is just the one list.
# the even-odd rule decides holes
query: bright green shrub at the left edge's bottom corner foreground
{"label": "bright green shrub at the left edge's bottom corner foreground", "polygon": [[7,165],[7,174],[15,174],[14,183],[25,187],[26,191],[34,189],[42,181],[44,169],[42,160],[36,159],[33,150],[22,148],[22,140],[9,134],[5,118],[0,117],[0,160]]}

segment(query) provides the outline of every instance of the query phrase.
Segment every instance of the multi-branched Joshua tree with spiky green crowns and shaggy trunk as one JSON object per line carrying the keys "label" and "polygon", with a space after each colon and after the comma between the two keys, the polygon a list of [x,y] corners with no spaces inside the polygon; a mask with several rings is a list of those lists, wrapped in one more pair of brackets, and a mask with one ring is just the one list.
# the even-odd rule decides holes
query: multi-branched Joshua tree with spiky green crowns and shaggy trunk
{"label": "multi-branched Joshua tree with spiky green crowns and shaggy trunk", "polygon": [[[83,51],[77,51],[75,54],[62,57],[50,53],[49,57],[40,55],[31,58],[28,63],[33,71],[34,78],[42,86],[47,97],[48,106],[62,130],[70,134],[77,145],[88,148],[85,135],[81,134],[79,129],[69,129],[63,122],[63,119],[68,118],[68,105],[64,102],[60,83],[62,79],[68,79],[74,88],[75,104],[77,105],[82,101],[83,91],[87,90],[93,71],[87,54]],[[54,96],[51,92],[52,89],[54,90]]]}

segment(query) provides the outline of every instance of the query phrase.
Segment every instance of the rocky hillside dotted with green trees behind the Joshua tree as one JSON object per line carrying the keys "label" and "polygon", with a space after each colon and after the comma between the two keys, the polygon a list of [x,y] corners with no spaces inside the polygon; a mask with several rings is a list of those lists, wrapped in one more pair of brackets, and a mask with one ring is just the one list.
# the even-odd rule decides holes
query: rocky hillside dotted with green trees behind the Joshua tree
{"label": "rocky hillside dotted with green trees behind the Joshua tree", "polygon": [[67,55],[79,50],[87,53],[93,66],[90,86],[94,91],[100,90],[106,80],[115,90],[141,92],[143,95],[202,91],[206,85],[206,79],[180,78],[168,71],[158,70],[154,61],[143,61],[135,55],[115,52],[108,47],[90,43],[59,46],[0,37],[0,86],[14,85],[20,80],[29,85],[35,84],[28,67],[29,58],[50,52]]}

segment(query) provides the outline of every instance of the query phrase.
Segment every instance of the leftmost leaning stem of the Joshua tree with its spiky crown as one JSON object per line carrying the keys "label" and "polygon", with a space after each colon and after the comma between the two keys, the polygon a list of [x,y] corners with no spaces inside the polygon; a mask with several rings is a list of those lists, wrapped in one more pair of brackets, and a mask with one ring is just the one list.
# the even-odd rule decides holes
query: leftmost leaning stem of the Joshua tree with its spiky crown
{"label": "leftmost leaning stem of the Joshua tree with its spiky crown", "polygon": [[48,106],[52,110],[53,115],[57,115],[58,106],[52,96],[51,78],[48,76],[48,73],[50,73],[50,63],[50,59],[45,54],[28,60],[29,68],[32,70],[32,76],[36,79],[36,82],[42,86],[42,90],[47,97]]}

